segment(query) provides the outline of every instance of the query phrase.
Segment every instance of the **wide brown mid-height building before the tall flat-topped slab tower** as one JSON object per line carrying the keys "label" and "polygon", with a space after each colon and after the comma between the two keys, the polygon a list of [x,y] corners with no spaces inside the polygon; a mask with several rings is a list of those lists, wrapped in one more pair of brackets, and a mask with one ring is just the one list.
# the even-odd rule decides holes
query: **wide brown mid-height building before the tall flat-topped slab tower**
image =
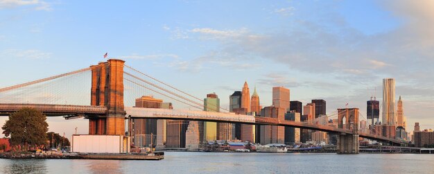
{"label": "wide brown mid-height building before the tall flat-topped slab tower", "polygon": [[[284,107],[263,107],[261,116],[284,120],[286,109]],[[285,127],[277,125],[261,125],[261,144],[285,143]]]}

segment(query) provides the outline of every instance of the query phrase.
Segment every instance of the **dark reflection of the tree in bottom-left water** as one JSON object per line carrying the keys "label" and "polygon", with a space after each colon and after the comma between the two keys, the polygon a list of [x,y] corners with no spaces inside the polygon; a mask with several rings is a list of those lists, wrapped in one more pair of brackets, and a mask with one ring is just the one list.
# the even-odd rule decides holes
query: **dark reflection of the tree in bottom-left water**
{"label": "dark reflection of the tree in bottom-left water", "polygon": [[47,173],[45,159],[10,159],[2,161],[1,173]]}

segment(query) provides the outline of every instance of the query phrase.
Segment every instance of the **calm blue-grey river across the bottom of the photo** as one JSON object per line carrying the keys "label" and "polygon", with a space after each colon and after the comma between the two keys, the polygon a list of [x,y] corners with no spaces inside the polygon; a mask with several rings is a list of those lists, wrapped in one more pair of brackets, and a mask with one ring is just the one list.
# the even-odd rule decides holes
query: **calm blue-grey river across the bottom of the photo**
{"label": "calm blue-grey river across the bottom of the photo", "polygon": [[166,152],[161,161],[0,159],[0,173],[434,173],[434,155]]}

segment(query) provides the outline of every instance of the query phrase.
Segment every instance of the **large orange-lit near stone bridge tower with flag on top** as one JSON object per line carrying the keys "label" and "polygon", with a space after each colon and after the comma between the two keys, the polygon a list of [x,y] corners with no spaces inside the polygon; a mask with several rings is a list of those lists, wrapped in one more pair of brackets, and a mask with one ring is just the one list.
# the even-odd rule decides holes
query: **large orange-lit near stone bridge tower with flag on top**
{"label": "large orange-lit near stone bridge tower with flag on top", "polygon": [[107,107],[107,113],[89,118],[89,134],[125,135],[125,110],[123,109],[123,64],[110,59],[93,65],[91,105]]}

